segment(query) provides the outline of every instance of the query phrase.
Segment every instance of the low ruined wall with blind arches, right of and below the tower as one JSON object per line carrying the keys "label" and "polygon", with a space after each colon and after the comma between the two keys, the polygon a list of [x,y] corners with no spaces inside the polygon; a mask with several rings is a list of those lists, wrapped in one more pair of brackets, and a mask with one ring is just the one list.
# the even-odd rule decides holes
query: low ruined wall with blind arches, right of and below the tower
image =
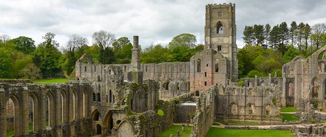
{"label": "low ruined wall with blind arches, right of and below the tower", "polygon": [[216,120],[281,122],[282,91],[279,85],[228,86],[225,90],[219,88],[216,99]]}

